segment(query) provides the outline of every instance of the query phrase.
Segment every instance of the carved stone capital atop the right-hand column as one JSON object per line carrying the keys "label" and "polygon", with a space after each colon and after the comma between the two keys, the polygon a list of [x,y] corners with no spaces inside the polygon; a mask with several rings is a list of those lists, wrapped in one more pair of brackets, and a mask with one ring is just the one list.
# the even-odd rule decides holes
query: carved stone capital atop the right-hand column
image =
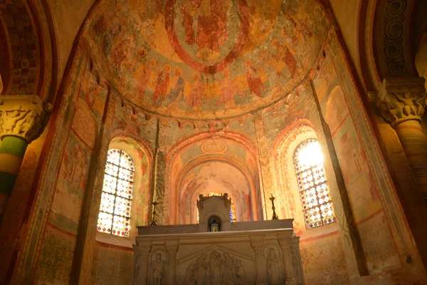
{"label": "carved stone capital atop the right-hand column", "polygon": [[386,78],[376,96],[376,105],[381,115],[391,126],[406,120],[418,120],[426,108],[427,93],[425,79]]}

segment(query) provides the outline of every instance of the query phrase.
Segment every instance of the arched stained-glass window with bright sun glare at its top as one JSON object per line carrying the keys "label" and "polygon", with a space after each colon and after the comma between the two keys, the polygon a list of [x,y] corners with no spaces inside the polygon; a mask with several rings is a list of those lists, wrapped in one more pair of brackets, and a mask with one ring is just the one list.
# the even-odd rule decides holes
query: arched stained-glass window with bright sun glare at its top
{"label": "arched stained-glass window with bright sun glare at its top", "polygon": [[293,156],[305,227],[312,229],[337,221],[327,185],[323,155],[317,140],[305,140]]}

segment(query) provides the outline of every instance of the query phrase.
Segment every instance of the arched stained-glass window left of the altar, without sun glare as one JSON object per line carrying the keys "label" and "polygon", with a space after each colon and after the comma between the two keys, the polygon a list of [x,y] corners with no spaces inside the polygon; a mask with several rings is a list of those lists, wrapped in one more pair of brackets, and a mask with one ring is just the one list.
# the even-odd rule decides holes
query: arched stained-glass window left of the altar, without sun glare
{"label": "arched stained-glass window left of the altar, without sun glare", "polygon": [[134,164],[123,150],[108,150],[97,231],[129,237]]}

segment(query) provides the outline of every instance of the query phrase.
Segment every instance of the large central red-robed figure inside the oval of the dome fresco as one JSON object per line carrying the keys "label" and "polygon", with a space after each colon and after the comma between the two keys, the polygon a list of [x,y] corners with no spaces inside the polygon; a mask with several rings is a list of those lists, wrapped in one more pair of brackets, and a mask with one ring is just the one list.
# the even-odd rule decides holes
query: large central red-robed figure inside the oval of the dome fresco
{"label": "large central red-robed figure inside the oval of the dome fresco", "polygon": [[[196,56],[214,61],[221,55],[219,48],[228,38],[227,11],[229,0],[186,0],[181,11],[184,16],[186,43],[198,46]],[[197,23],[196,33],[194,22]]]}

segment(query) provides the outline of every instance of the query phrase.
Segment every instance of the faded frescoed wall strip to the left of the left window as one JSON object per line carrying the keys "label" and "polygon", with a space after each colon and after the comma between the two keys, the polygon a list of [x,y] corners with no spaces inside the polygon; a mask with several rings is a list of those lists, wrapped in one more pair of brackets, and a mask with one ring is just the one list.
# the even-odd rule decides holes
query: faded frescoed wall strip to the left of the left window
{"label": "faded frescoed wall strip to the left of the left window", "polygon": [[63,120],[68,128],[58,130],[63,135],[63,150],[53,155],[60,157],[54,180],[53,202],[50,205],[46,229],[34,282],[36,284],[67,283],[73,261],[75,239],[80,225],[82,204],[88,182],[95,140],[100,132],[102,114],[107,96],[106,86],[99,75],[90,70],[90,61],[83,55],[75,61],[70,93],[64,98]]}

